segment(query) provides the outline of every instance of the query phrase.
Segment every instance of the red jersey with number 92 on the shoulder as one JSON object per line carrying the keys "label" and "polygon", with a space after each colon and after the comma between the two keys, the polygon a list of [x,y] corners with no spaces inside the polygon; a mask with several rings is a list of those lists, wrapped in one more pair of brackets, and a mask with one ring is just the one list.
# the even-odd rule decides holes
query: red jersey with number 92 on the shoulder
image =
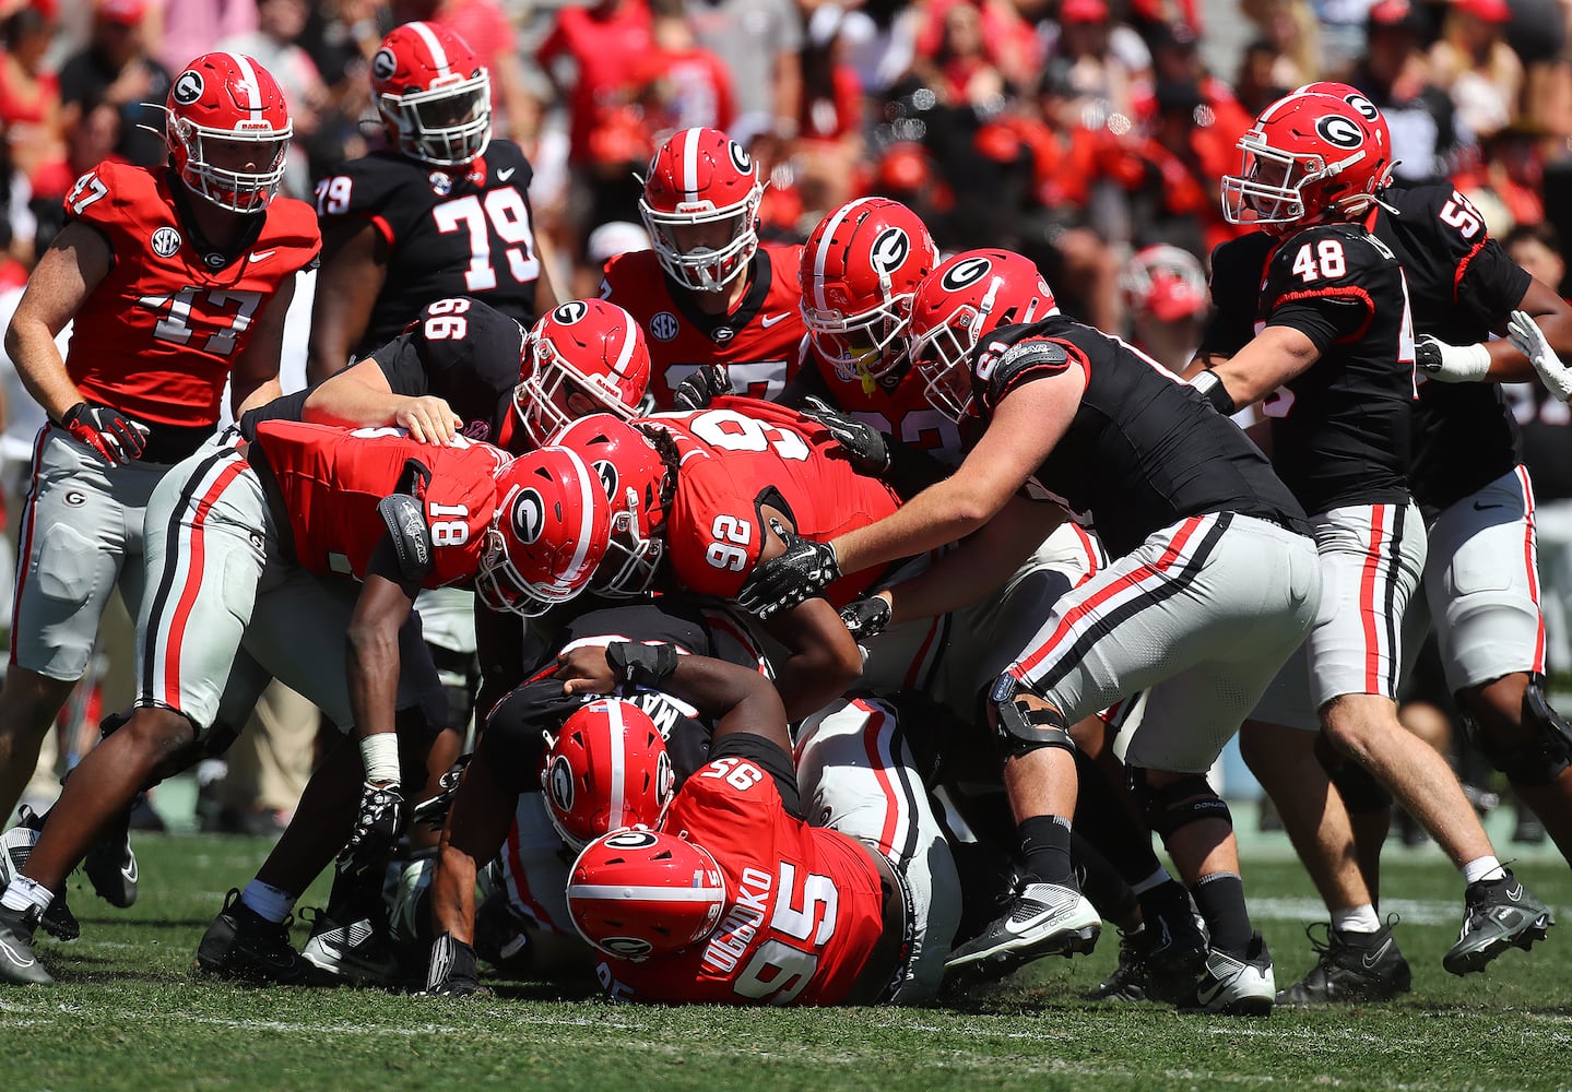
{"label": "red jersey with number 92 on the shoulder", "polygon": [[[838,445],[816,421],[773,402],[718,398],[707,410],[646,418],[682,454],[667,512],[667,556],[684,588],[734,599],[764,545],[761,509],[791,515],[797,534],[828,541],[894,512],[901,501],[876,478],[832,456]],[[877,578],[841,577],[825,597],[841,606]]]}

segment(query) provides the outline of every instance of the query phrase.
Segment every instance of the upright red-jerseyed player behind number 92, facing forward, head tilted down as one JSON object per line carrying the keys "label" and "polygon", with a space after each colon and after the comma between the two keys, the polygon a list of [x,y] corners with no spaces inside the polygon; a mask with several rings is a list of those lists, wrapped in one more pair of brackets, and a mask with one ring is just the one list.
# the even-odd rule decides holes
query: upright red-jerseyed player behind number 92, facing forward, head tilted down
{"label": "upright red-jerseyed player behind number 92, facing forward, head tilted down", "polygon": [[802,247],[759,244],[762,195],[758,165],[715,129],[684,129],[649,160],[638,211],[654,250],[607,262],[601,299],[645,328],[656,409],[706,365],[753,398],[795,376]]}

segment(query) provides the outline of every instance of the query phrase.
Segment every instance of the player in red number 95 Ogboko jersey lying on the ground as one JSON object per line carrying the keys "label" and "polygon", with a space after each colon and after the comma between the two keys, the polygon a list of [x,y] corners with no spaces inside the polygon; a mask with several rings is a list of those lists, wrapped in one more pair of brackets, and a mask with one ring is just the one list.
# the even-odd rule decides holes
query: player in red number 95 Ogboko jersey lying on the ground
{"label": "player in red number 95 Ogboko jersey lying on the ground", "polygon": [[[607,834],[574,863],[567,907],[607,955],[597,974],[612,998],[822,1006],[931,996],[934,984],[912,966],[923,949],[907,877],[877,839],[808,825],[803,801],[816,800],[816,786],[799,787],[786,710],[764,676],[659,646],[580,649],[560,674],[569,693],[649,680],[718,720],[707,764],[659,831]],[[667,855],[701,867],[665,867]]]}

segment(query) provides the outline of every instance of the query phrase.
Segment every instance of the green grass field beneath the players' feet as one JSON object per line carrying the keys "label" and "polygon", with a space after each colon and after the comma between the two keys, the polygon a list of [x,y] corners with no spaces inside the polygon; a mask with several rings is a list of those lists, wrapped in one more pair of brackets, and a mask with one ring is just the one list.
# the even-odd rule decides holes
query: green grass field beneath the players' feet
{"label": "green grass field beneath the players' feet", "polygon": [[[138,903],[112,910],[74,877],[82,938],[39,941],[60,985],[0,991],[0,1089],[1572,1087],[1572,929],[1484,974],[1446,974],[1462,900],[1434,850],[1388,852],[1409,998],[1229,1020],[1080,1001],[1113,966],[1111,930],[1091,957],[916,1010],[632,1009],[544,984],[498,984],[481,1001],[230,987],[198,977],[193,952],[267,844],[170,834],[137,845]],[[1281,847],[1253,852],[1245,870],[1283,985],[1313,962],[1303,924],[1317,903]],[[1519,875],[1572,921],[1558,858],[1534,852]]]}

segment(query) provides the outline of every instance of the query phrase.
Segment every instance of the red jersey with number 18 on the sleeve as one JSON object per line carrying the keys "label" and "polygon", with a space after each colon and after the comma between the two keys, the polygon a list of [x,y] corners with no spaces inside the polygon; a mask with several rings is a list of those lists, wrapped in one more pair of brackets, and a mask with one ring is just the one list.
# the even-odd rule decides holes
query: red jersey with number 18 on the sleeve
{"label": "red jersey with number 18 on the sleeve", "polygon": [[434,448],[402,429],[283,420],[256,426],[250,460],[264,464],[275,509],[289,519],[294,559],[310,572],[363,578],[390,531],[377,506],[393,493],[418,500],[431,545],[424,588],[475,578],[497,509],[497,473],[511,462],[500,448],[464,437]]}

